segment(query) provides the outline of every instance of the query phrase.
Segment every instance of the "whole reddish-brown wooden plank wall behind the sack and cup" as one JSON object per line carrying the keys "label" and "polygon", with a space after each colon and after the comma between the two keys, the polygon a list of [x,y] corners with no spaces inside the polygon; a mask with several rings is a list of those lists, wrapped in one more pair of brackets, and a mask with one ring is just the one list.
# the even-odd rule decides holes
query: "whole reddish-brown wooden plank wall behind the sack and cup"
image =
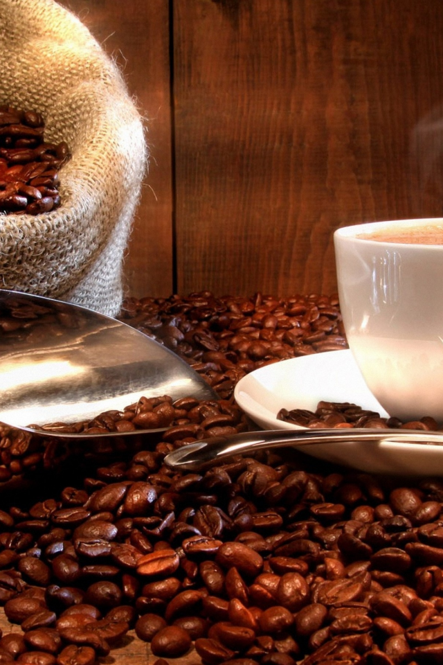
{"label": "whole reddish-brown wooden plank wall behind the sack and cup", "polygon": [[61,3],[147,118],[130,294],[332,292],[336,227],[442,214],[441,0]]}

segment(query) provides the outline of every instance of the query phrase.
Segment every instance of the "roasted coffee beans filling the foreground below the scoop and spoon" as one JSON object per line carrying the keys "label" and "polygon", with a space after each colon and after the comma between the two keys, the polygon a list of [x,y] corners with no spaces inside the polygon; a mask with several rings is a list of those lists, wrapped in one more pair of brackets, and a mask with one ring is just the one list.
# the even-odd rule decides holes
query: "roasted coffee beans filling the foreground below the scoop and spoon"
{"label": "roasted coffee beans filling the foreground below the scoop and spoon", "polygon": [[3,662],[93,663],[133,632],[208,665],[441,662],[442,482],[386,489],[271,453],[165,467],[192,438],[3,504],[0,601],[20,627]]}

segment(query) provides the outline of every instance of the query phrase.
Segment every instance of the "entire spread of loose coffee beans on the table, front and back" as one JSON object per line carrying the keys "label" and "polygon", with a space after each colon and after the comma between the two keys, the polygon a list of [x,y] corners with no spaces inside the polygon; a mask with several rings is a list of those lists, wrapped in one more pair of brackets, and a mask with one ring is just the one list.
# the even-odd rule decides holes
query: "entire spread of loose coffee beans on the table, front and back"
{"label": "entire spread of loose coffee beans on the table, front and back", "polygon": [[[122,317],[224,396],[190,400],[195,420],[156,438],[71,444],[24,468],[26,492],[3,488],[0,603],[15,630],[0,639],[0,662],[118,662],[114,648],[135,637],[158,665],[441,664],[443,480],[376,478],[287,448],[201,473],[163,461],[248,427],[232,400],[240,375],[343,348],[338,303],[205,293],[131,300]],[[294,344],[289,320],[302,330]],[[19,436],[3,433],[17,452]],[[27,441],[30,456],[44,434]]]}

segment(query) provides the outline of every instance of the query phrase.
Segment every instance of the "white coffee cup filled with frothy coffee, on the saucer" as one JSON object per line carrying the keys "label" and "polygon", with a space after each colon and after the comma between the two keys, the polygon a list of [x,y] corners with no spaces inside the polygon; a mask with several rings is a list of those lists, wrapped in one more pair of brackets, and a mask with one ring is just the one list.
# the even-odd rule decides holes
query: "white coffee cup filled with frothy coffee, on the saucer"
{"label": "white coffee cup filled with frothy coffee, on the saucer", "polygon": [[443,218],[344,227],[334,247],[347,342],[370,391],[391,416],[443,423]]}

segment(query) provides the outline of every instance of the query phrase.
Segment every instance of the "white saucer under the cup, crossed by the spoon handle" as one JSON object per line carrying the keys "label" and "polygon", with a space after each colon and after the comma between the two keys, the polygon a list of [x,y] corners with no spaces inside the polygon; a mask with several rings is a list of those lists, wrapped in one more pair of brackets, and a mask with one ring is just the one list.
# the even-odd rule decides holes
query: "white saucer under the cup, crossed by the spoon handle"
{"label": "white saucer under the cup, crossed by the spoon handle", "polygon": [[[363,409],[378,411],[381,416],[388,415],[372,396],[348,349],[261,367],[239,380],[234,397],[262,429],[303,429],[278,420],[278,411],[315,411],[320,400],[353,402]],[[343,441],[305,445],[303,452],[369,473],[443,475],[443,447],[438,445]]]}

